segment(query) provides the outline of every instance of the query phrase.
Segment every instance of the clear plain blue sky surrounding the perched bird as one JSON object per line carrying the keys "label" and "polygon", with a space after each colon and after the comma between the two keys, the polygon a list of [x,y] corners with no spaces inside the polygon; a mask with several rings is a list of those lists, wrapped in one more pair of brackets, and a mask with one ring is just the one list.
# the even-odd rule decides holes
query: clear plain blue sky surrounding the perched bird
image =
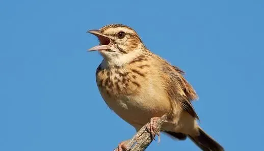
{"label": "clear plain blue sky surrounding the perched bird", "polygon": [[[264,1],[1,1],[0,150],[112,150],[133,127],[95,82],[88,29],[122,23],[186,71],[201,127],[226,150],[263,148]],[[261,128],[262,127],[262,128]],[[147,150],[199,150],[162,135]]]}

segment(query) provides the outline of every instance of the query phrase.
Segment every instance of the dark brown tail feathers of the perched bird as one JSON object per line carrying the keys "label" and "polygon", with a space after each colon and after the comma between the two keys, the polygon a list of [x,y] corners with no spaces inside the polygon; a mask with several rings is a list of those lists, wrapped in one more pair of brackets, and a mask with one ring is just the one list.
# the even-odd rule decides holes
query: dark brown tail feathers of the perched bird
{"label": "dark brown tail feathers of the perched bird", "polygon": [[203,151],[224,151],[224,148],[200,127],[198,128],[198,132],[198,135],[188,135],[188,137]]}

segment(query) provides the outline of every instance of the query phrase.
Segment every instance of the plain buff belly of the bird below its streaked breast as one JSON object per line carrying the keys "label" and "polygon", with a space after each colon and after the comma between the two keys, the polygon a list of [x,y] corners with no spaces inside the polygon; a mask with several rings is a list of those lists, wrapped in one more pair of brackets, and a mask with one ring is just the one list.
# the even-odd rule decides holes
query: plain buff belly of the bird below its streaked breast
{"label": "plain buff belly of the bird below its streaked breast", "polygon": [[151,117],[161,117],[170,110],[170,106],[164,106],[164,102],[161,102],[159,98],[148,95],[120,95],[118,97],[105,93],[101,93],[101,95],[118,116],[137,130],[148,123]]}

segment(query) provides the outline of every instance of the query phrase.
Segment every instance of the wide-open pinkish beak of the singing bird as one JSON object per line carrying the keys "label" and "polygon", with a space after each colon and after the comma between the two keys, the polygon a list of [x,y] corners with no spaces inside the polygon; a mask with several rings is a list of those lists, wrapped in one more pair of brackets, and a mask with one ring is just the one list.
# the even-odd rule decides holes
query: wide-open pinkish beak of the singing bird
{"label": "wide-open pinkish beak of the singing bird", "polygon": [[108,50],[108,49],[110,49],[109,48],[109,45],[111,43],[110,38],[105,36],[105,35],[103,35],[99,30],[90,30],[87,33],[95,35],[100,41],[99,45],[88,49],[88,51]]}

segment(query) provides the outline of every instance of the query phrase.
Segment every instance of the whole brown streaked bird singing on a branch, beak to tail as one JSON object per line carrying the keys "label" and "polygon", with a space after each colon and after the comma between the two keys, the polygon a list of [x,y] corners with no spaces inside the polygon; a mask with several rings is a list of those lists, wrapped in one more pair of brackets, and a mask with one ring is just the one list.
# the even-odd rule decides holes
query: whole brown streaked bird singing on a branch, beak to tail
{"label": "whole brown streaked bird singing on a branch, beak to tail", "polygon": [[[127,25],[108,24],[87,33],[99,40],[88,51],[98,51],[103,58],[96,69],[99,93],[119,117],[136,131],[150,122],[153,135],[156,120],[167,114],[161,128],[165,134],[177,140],[190,138],[204,151],[224,150],[199,126],[192,105],[198,95],[179,67],[150,51]],[[118,151],[126,150],[126,143],[119,143]]]}

